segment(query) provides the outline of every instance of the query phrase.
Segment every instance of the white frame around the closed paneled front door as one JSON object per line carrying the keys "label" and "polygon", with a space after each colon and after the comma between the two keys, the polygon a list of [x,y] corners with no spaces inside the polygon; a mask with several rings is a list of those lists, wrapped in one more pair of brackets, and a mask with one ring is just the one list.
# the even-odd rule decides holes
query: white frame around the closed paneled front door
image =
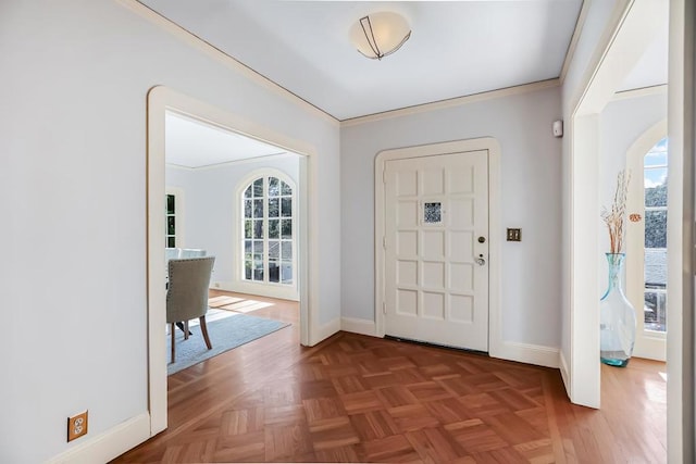
{"label": "white frame around the closed paneled front door", "polygon": [[383,150],[375,156],[374,168],[374,254],[375,254],[375,335],[385,336],[385,168],[386,162],[409,158],[437,156],[465,151],[488,152],[488,354],[501,358],[500,323],[500,145],[493,137],[456,140],[424,146]]}

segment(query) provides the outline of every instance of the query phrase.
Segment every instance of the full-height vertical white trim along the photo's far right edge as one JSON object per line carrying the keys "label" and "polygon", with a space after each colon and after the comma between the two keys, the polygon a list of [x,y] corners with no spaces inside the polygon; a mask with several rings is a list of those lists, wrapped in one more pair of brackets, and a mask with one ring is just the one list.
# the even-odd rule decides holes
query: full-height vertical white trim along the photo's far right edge
{"label": "full-height vertical white trim along the photo's far right edge", "polygon": [[[670,331],[667,340],[667,459],[693,463],[694,449],[694,190],[696,159],[696,2],[670,1],[667,214]],[[678,171],[679,170],[679,171]],[[674,213],[674,214],[672,214]]]}

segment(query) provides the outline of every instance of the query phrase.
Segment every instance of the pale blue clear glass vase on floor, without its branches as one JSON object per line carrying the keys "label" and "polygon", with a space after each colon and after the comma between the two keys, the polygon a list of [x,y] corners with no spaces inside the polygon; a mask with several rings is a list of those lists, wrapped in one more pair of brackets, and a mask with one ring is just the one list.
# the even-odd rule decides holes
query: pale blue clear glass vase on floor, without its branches
{"label": "pale blue clear glass vase on floor, without its branches", "polygon": [[635,343],[635,310],[623,292],[624,253],[606,253],[609,265],[607,292],[599,302],[600,360],[625,367]]}

